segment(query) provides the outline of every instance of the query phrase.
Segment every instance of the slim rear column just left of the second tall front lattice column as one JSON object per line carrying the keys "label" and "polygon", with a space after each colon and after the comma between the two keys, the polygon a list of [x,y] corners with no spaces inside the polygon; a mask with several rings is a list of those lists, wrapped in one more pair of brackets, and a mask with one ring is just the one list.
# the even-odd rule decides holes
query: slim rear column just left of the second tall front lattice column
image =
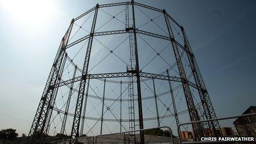
{"label": "slim rear column just left of the second tall front lattice column", "polygon": [[68,113],[68,109],[70,108],[70,99],[71,99],[71,96],[73,94],[74,78],[76,78],[76,72],[77,72],[77,66],[74,67],[73,79],[72,79],[72,83],[71,83],[71,86],[70,86],[70,92],[68,93],[68,98],[67,98],[67,103],[66,103],[66,108],[65,108],[65,114],[63,116],[63,121],[62,121],[60,134],[64,134],[64,131],[65,131],[65,126],[66,126],[66,122],[67,122],[67,113]]}

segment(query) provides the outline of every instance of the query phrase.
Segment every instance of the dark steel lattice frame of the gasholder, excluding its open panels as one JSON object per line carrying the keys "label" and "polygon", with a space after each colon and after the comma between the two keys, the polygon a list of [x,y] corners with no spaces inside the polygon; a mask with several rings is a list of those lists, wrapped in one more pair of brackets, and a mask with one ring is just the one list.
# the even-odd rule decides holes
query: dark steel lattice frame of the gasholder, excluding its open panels
{"label": "dark steel lattice frame of the gasholder, excluding its open panels", "polygon": [[[95,24],[97,22],[98,9],[104,8],[104,7],[115,7],[115,6],[131,6],[132,7],[132,22],[133,22],[132,27],[126,28],[126,29],[121,29],[121,30],[95,32]],[[150,10],[154,10],[156,12],[162,13],[164,15],[164,19],[166,21],[166,26],[168,29],[167,32],[168,32],[169,36],[154,34],[154,33],[148,32],[148,31],[143,31],[143,30],[137,29],[136,25],[135,25],[136,23],[135,23],[134,6],[143,7],[146,9],[150,9]],[[68,44],[68,40],[70,39],[70,34],[71,34],[71,30],[72,30],[74,22],[76,22],[76,20],[81,19],[82,17],[86,16],[87,14],[89,14],[91,12],[94,12],[94,17],[93,17],[90,34]],[[172,28],[172,25],[170,24],[170,22],[177,25],[178,28],[180,28],[180,30],[182,31],[184,45],[180,44],[177,40],[175,40],[173,31],[172,31],[173,28]],[[118,72],[118,73],[89,74],[88,73],[88,65],[89,65],[90,52],[92,49],[92,43],[93,43],[94,36],[116,35],[116,34],[127,34],[127,33],[134,35],[134,48],[135,48],[135,58],[136,58],[135,69],[131,70],[131,71],[127,70],[127,72]],[[164,72],[164,73],[167,73],[167,75],[164,75],[164,73],[154,74],[154,73],[146,73],[146,72],[140,71],[140,68],[138,66],[137,38],[136,38],[137,34],[148,35],[148,36],[152,36],[154,38],[163,39],[163,40],[167,40],[167,41],[171,42],[173,52],[175,55],[175,60],[177,62],[177,66],[178,66],[178,70],[179,70],[179,77],[169,76],[168,70],[167,70],[167,72]],[[86,51],[83,68],[79,68],[72,61],[72,59],[67,55],[66,50],[70,49],[70,47],[77,45],[84,40],[88,40],[88,46],[87,46],[87,51]],[[181,54],[179,52],[179,49],[185,51],[185,54],[188,57],[191,71],[193,72],[193,77],[194,77],[195,83],[190,82],[188,80],[188,77],[185,74],[184,64],[182,62],[182,57],[180,56]],[[73,77],[71,79],[63,81],[62,73],[63,73],[65,61],[70,61],[70,63],[75,67],[75,70],[74,70]],[[82,76],[76,76],[76,71],[81,72]],[[57,111],[57,113],[61,113],[64,115],[63,123],[62,123],[62,127],[61,127],[62,134],[65,131],[65,124],[66,124],[67,116],[69,115],[69,116],[73,117],[73,124],[72,124],[72,130],[71,130],[71,136],[73,136],[73,137],[79,136],[80,124],[82,123],[81,127],[83,127],[83,123],[84,123],[83,121],[85,119],[103,121],[103,118],[93,118],[93,117],[86,116],[85,110],[82,111],[83,105],[84,105],[84,109],[86,109],[86,102],[87,102],[88,97],[103,100],[102,109],[104,106],[104,100],[118,101],[118,102],[122,103],[122,102],[129,101],[129,99],[122,99],[122,97],[120,99],[104,98],[104,97],[99,98],[99,97],[96,97],[95,95],[90,95],[90,94],[88,94],[89,80],[90,79],[99,79],[100,81],[104,81],[104,90],[105,90],[105,82],[120,83],[121,85],[124,83],[129,83],[129,82],[125,82],[125,81],[120,82],[120,81],[106,80],[106,78],[117,78],[117,77],[136,77],[135,83],[137,86],[137,99],[135,99],[135,100],[138,102],[139,117],[138,117],[138,119],[135,119],[135,121],[139,122],[140,129],[143,129],[143,121],[157,120],[158,126],[159,126],[160,125],[159,118],[168,118],[170,116],[175,117],[176,123],[178,125],[179,124],[178,115],[186,113],[186,111],[188,111],[188,113],[189,113],[190,121],[198,121],[198,120],[200,120],[199,114],[198,114],[198,107],[200,105],[202,105],[206,119],[215,119],[216,118],[216,114],[215,114],[214,108],[212,106],[209,94],[206,90],[205,83],[202,79],[198,64],[196,63],[193,51],[190,47],[190,44],[189,44],[188,38],[185,34],[183,26],[180,26],[172,17],[170,17],[170,15],[166,12],[166,10],[153,8],[150,6],[146,6],[145,4],[137,3],[134,1],[102,4],[102,5],[97,4],[94,8],[88,10],[87,12],[83,13],[79,17],[72,19],[71,24],[70,24],[65,36],[63,36],[63,38],[61,40],[61,44],[58,48],[57,55],[54,60],[54,64],[52,65],[52,68],[51,68],[51,71],[49,74],[49,78],[47,79],[44,92],[42,93],[42,97],[41,97],[38,109],[36,110],[33,124],[29,131],[28,143],[34,143],[35,140],[38,140],[38,139],[40,139],[41,141],[44,141],[45,134],[48,134],[48,131],[49,131],[52,110],[55,110],[55,111]],[[168,81],[170,90],[167,92],[161,93],[161,94],[156,94],[155,87],[154,87],[154,95],[152,95],[151,97],[141,98],[141,88],[140,88],[141,87],[140,86],[141,78],[144,78],[143,81],[148,81],[148,80],[152,79],[153,84],[154,84],[154,79],[162,79],[164,81]],[[174,100],[174,96],[173,96],[172,84],[170,83],[171,81],[180,82],[182,84],[185,99],[186,99],[186,104],[188,106],[188,110],[181,111],[179,113],[177,112],[177,110],[175,108],[175,103],[174,103],[175,100]],[[74,82],[79,82],[79,89],[76,89],[73,87]],[[58,88],[62,87],[62,86],[67,86],[68,88],[70,88],[70,93],[68,94],[68,100],[70,100],[72,92],[78,93],[76,109],[74,111],[74,114],[68,112],[68,106],[69,106],[70,102],[67,102],[65,111],[58,109],[54,106]],[[201,102],[197,105],[194,104],[193,95],[191,94],[190,87],[193,87],[198,90]],[[157,113],[156,117],[143,119],[142,100],[155,99],[155,103],[157,105],[157,98],[161,97],[161,95],[164,95],[164,94],[170,94],[170,96],[172,97],[173,106],[174,106],[174,114],[159,116],[158,109],[156,108],[156,113]],[[85,100],[84,100],[84,96],[86,96]],[[85,102],[85,104],[83,104],[83,102]],[[103,110],[102,110],[102,113],[103,113]],[[82,122],[81,122],[81,120],[82,120]],[[104,119],[104,121],[118,121],[118,120]],[[129,121],[129,119],[120,119],[120,121],[119,121],[120,129],[121,129],[121,122],[128,122],[128,121]],[[204,130],[205,125],[207,125],[207,127],[209,127],[210,134],[205,133],[205,130]],[[207,135],[207,136],[220,135],[216,131],[217,129],[220,128],[218,121],[211,121],[211,122],[208,122],[207,124],[193,124],[192,127],[193,127],[195,137],[197,139],[199,137],[205,136],[205,135]],[[101,127],[101,129],[102,129],[102,127]],[[101,130],[101,132],[102,132],[102,130]],[[141,142],[143,143],[144,142],[143,132],[141,132],[140,134],[141,134],[140,139],[141,139]],[[73,142],[75,142],[75,141],[73,141]]]}

